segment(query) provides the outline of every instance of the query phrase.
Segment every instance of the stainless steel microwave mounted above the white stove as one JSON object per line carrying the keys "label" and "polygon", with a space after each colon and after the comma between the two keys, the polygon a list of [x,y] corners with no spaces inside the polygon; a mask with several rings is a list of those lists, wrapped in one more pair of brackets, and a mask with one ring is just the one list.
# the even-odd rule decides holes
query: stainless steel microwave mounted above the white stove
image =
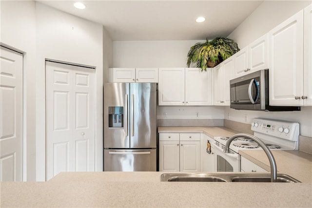
{"label": "stainless steel microwave mounted above the white stove", "polygon": [[300,111],[298,106],[270,106],[269,69],[230,80],[230,108],[255,111]]}

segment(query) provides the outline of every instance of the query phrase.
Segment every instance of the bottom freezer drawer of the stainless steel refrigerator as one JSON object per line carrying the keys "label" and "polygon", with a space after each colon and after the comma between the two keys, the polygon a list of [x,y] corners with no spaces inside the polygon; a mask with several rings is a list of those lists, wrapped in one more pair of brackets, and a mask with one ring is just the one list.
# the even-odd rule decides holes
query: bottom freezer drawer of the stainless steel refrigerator
{"label": "bottom freezer drawer of the stainless steel refrigerator", "polygon": [[156,149],[105,149],[104,171],[156,171]]}

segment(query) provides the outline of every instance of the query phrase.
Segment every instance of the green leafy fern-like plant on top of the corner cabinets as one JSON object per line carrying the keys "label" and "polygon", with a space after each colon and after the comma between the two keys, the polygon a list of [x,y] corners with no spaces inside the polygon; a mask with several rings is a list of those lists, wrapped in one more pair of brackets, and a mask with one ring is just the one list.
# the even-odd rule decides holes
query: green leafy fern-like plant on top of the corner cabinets
{"label": "green leafy fern-like plant on top of the corner cabinets", "polygon": [[198,42],[191,47],[187,54],[187,66],[195,63],[201,71],[206,71],[207,67],[215,67],[225,59],[231,57],[240,49],[233,39],[217,37],[211,41]]}

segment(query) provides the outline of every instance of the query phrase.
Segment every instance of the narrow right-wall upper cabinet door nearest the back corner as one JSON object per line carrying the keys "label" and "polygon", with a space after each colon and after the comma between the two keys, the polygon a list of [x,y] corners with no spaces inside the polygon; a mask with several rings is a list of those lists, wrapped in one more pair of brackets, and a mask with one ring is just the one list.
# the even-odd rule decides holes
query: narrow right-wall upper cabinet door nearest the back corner
{"label": "narrow right-wall upper cabinet door nearest the back corner", "polygon": [[223,70],[222,63],[214,68],[214,105],[223,105]]}

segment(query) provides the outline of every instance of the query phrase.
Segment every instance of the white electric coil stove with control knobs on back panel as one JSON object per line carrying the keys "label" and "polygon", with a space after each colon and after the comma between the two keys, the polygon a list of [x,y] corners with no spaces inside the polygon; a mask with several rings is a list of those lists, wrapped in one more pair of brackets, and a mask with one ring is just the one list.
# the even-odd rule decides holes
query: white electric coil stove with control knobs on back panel
{"label": "white electric coil stove with control knobs on back panel", "polygon": [[[298,150],[299,123],[267,118],[254,118],[251,129],[254,136],[264,142],[271,151]],[[235,139],[230,145],[230,153],[224,148],[229,137],[214,138],[215,171],[240,171],[240,150],[261,150],[256,142],[245,137]]]}

